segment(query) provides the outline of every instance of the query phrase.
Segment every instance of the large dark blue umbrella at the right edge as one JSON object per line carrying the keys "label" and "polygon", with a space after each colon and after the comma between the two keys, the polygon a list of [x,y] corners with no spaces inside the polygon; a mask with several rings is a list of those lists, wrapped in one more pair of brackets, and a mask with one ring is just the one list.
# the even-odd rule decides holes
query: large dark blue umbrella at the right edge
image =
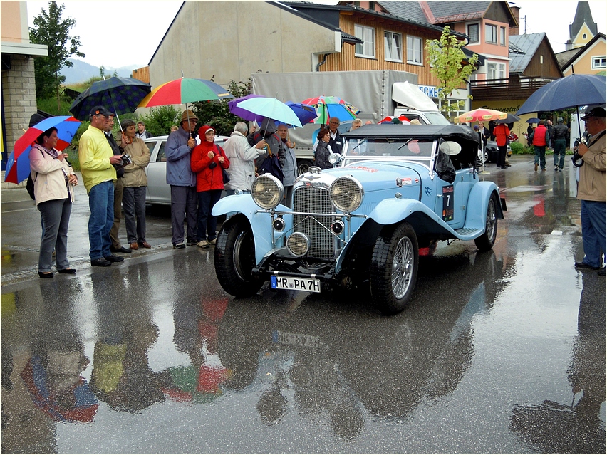
{"label": "large dark blue umbrella at the right edge", "polygon": [[603,104],[607,92],[605,76],[572,74],[539,88],[518,110],[517,115]]}

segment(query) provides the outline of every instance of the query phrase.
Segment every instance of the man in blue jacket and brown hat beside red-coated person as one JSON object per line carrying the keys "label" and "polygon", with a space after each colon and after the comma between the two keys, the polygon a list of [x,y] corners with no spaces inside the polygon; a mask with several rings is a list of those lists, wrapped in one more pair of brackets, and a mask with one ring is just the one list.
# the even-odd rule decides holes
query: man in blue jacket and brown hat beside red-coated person
{"label": "man in blue jacket and brown hat beside red-coated person", "polygon": [[187,216],[187,245],[197,242],[197,204],[196,174],[190,167],[190,155],[196,147],[192,132],[198,117],[191,110],[183,111],[180,128],[173,131],[165,146],[167,156],[167,184],[171,186],[171,231],[174,249],[183,249],[184,213]]}

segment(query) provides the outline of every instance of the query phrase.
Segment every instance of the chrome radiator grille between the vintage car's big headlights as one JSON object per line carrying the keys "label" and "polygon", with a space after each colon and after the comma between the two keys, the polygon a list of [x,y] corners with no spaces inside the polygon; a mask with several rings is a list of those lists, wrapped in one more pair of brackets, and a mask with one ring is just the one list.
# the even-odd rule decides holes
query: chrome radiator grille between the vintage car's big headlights
{"label": "chrome radiator grille between the vintage car's big headlights", "polygon": [[[333,206],[328,189],[318,187],[299,187],[293,194],[293,209],[296,212],[331,214]],[[331,216],[308,216],[296,214],[293,217],[294,231],[302,232],[310,239],[310,251],[306,256],[314,258],[333,258],[333,234],[331,234]]]}

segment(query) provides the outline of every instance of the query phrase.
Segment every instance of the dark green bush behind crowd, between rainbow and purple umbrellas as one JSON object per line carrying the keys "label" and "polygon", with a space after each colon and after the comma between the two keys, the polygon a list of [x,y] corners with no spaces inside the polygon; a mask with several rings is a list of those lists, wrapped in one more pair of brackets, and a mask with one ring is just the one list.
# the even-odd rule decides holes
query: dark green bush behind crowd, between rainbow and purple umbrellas
{"label": "dark green bush behind crowd, between rainbow and purple umbrellas", "polygon": [[[234,80],[230,80],[228,91],[234,95],[234,98],[250,95],[251,81],[240,81],[237,83]],[[214,127],[215,134],[229,136],[234,131],[234,124],[243,121],[242,118],[229,112],[229,101],[211,100],[192,103],[194,113],[196,113],[199,120],[198,125],[210,125]]]}

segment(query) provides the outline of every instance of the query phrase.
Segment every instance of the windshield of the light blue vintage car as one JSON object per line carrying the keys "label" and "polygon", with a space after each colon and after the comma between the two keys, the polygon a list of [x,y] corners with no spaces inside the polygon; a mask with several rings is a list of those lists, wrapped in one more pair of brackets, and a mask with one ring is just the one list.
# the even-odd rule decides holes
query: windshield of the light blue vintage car
{"label": "windshield of the light blue vintage car", "polygon": [[343,150],[344,161],[360,161],[363,159],[382,159],[394,157],[395,159],[412,159],[415,161],[430,162],[432,157],[432,148],[434,141],[417,139],[390,139],[390,138],[369,138],[369,139],[351,139],[346,141]]}

